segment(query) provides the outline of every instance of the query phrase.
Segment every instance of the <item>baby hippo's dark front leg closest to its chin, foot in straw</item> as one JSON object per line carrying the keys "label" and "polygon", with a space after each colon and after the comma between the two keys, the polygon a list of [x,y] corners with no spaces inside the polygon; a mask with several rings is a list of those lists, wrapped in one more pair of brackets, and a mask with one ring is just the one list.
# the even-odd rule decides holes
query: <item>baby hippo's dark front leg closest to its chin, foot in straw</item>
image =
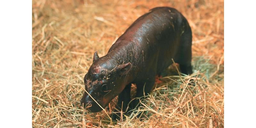
{"label": "baby hippo's dark front leg closest to its chin, foot in straw", "polygon": [[[112,114],[112,120],[120,119],[121,108],[122,108],[122,112],[126,111],[126,108],[128,107],[128,103],[131,101],[131,85],[132,84],[126,85],[124,90],[118,95],[118,102],[114,110],[114,112],[116,113]],[[123,107],[122,107],[122,104],[123,104]]]}

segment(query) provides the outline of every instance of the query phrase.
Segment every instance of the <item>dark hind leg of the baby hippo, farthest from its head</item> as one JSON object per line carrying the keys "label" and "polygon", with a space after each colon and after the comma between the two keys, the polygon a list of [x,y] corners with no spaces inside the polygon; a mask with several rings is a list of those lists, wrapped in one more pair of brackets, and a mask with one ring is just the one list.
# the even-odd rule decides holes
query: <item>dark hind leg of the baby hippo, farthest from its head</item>
{"label": "dark hind leg of the baby hippo, farthest from its head", "polygon": [[186,31],[181,35],[180,49],[177,57],[177,63],[180,65],[180,71],[184,74],[192,74],[192,32],[191,28],[187,26]]}

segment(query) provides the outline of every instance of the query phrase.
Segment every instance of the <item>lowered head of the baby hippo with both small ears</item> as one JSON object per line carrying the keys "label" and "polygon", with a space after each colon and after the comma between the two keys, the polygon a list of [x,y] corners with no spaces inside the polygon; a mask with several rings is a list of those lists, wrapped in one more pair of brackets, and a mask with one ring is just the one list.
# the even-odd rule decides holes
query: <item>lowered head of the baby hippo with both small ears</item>
{"label": "lowered head of the baby hippo with both small ears", "polygon": [[[99,112],[120,94],[126,85],[125,74],[131,69],[131,63],[117,65],[106,57],[99,58],[94,53],[93,63],[84,76],[85,90],[81,105],[90,112]],[[92,98],[94,99],[92,99]],[[102,107],[96,103],[96,102]]]}

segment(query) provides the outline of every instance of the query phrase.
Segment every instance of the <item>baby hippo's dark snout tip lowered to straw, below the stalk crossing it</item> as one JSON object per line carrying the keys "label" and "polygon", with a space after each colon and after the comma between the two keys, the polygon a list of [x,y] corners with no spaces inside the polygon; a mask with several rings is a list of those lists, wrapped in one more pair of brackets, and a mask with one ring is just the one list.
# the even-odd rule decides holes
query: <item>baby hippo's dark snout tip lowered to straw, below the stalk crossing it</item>
{"label": "baby hippo's dark snout tip lowered to straw, below the stalk crossing it", "polygon": [[[98,103],[100,104],[100,102]],[[102,110],[100,106],[95,101],[93,101],[88,94],[85,93],[82,99],[80,100],[80,104],[84,107],[84,109],[88,110],[89,112],[95,113]]]}

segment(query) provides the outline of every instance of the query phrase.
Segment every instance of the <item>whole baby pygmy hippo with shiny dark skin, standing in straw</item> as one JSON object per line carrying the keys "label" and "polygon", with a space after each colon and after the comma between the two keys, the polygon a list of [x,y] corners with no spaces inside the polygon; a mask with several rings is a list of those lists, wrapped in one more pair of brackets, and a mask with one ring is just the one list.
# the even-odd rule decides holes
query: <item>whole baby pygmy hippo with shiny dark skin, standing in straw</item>
{"label": "whole baby pygmy hippo with shiny dark skin, standing in straw", "polygon": [[[192,73],[191,45],[191,28],[180,12],[169,7],[151,9],[132,23],[107,55],[99,58],[94,53],[84,76],[85,90],[103,108],[118,95],[116,109],[133,109],[139,100],[131,101],[132,83],[137,86],[135,97],[149,94],[155,77],[172,64],[172,59],[179,63],[182,73]],[[102,110],[86,92],[81,104],[91,112]]]}

